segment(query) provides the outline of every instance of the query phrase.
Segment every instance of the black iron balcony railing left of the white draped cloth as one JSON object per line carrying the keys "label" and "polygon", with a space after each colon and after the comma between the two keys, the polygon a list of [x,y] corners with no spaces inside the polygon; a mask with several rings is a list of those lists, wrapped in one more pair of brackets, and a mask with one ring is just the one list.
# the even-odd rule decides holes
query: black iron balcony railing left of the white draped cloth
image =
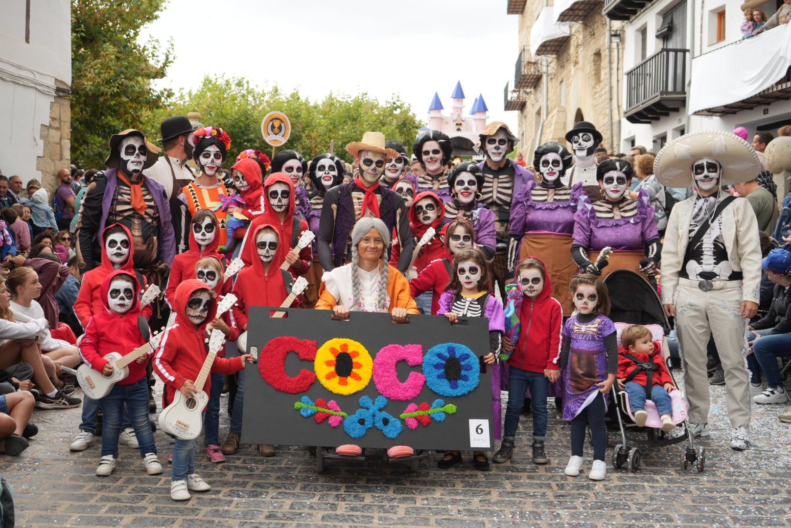
{"label": "black iron balcony railing left of the white draped cloth", "polygon": [[687,100],[687,54],[663,49],[626,72],[626,109],[630,123],[650,123],[678,111]]}

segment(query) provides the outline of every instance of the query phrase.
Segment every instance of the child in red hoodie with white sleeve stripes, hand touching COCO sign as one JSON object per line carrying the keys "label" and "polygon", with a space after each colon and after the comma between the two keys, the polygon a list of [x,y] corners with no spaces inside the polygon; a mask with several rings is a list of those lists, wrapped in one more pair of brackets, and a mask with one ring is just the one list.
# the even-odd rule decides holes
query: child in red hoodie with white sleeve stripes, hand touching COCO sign
{"label": "child in red hoodie with white sleeve stripes, hand touching COCO sign", "polygon": [[[173,310],[176,322],[168,326],[162,336],[154,357],[154,371],[165,382],[162,406],[172,402],[173,394],[179,390],[187,398],[195,394],[194,379],[206,360],[206,327],[214,321],[217,314],[217,301],[214,292],[198,279],[183,281],[176,288],[173,297]],[[252,356],[234,357],[226,360],[216,358],[211,371],[217,374],[234,374],[244,368],[244,362],[252,363]],[[203,390],[210,393],[211,380],[206,380]],[[170,482],[172,500],[189,500],[190,492],[204,492],[210,489],[195,473],[195,445],[198,439],[176,439],[173,446],[173,466]]]}

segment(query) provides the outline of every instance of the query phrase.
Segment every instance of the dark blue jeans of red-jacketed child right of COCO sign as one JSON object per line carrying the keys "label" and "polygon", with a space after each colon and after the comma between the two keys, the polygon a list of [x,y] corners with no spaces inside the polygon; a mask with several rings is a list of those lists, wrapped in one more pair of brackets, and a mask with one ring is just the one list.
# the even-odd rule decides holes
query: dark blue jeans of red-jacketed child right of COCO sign
{"label": "dark blue jeans of red-jacketed child right of COCO sign", "polygon": [[530,388],[533,409],[533,439],[547,438],[547,393],[549,379],[543,372],[523,371],[510,367],[508,375],[508,407],[505,409],[505,428],[502,438],[513,440],[517,436],[519,415],[524,407],[524,391]]}

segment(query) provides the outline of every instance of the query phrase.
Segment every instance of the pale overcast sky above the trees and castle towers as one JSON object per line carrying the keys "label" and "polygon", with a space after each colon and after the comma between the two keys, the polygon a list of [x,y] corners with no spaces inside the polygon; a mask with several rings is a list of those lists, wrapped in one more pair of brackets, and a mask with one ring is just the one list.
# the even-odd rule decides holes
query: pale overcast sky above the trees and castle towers
{"label": "pale overcast sky above the trees and castle towers", "polygon": [[384,103],[397,93],[425,122],[434,92],[447,114],[461,81],[465,115],[483,93],[490,121],[516,132],[503,89],[513,84],[519,17],[505,8],[506,0],[171,0],[142,40],[172,39],[176,59],[158,85],[176,92],[224,74],[311,100],[368,92]]}

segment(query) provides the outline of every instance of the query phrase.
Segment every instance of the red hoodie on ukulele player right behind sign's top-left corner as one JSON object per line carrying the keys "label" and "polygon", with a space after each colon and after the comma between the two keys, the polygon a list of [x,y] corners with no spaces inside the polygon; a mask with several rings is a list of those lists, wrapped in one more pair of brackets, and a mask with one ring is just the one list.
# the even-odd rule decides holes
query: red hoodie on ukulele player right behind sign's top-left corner
{"label": "red hoodie on ukulele player right behind sign's top-left corner", "polygon": [[[248,232],[250,235],[250,247],[255,247],[255,236],[263,228],[272,228],[275,232],[278,230],[274,225],[257,225]],[[275,251],[269,270],[266,271],[263,269],[263,262],[261,262],[256,251],[255,260],[252,264],[245,267],[237,275],[237,281],[233,284],[233,295],[237,296],[239,300],[237,304],[233,305],[232,309],[233,319],[237,322],[240,330],[247,330],[251,306],[280,306],[286,300],[288,292],[286,291],[283,272],[280,270],[279,265],[275,265],[278,260],[283,262],[282,251],[286,250],[278,243],[278,249]],[[278,257],[280,258],[278,259]],[[301,296],[297,296],[293,306],[301,306]]]}

